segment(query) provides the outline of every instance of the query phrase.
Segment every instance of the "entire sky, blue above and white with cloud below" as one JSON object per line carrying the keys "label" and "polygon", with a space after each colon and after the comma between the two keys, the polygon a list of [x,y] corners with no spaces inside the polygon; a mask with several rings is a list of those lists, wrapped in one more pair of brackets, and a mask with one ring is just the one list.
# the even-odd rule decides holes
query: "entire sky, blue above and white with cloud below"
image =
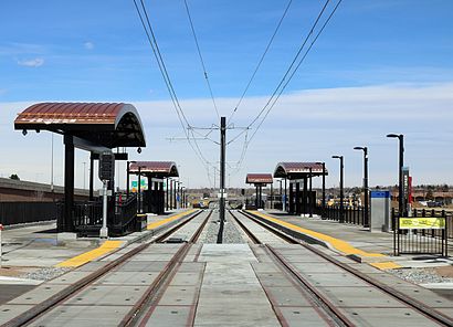
{"label": "entire sky, blue above and white with cloud below", "polygon": [[[218,124],[183,1],[146,3],[188,119],[197,126]],[[219,110],[229,116],[287,1],[188,3]],[[293,0],[235,116],[236,126],[247,125],[265,104],[322,4]],[[328,182],[335,184],[337,162],[329,158],[339,152],[347,157],[346,183],[359,184],[356,145],[370,146],[371,183],[394,183],[397,145],[383,137],[387,133],[407,136],[407,165],[415,183],[453,183],[453,156],[445,151],[453,135],[452,18],[449,0],[344,0],[257,131],[241,170],[229,171],[231,184],[242,186],[246,172],[272,171],[285,160],[326,160]],[[25,179],[49,179],[49,161],[34,171],[21,167],[18,148],[35,149],[36,160],[39,150],[49,148],[45,134],[24,139],[13,130],[15,114],[27,105],[120,101],[136,105],[147,129],[148,148],[136,159],[179,161],[191,186],[209,184],[191,148],[168,141],[183,133],[131,0],[7,0],[0,20],[0,146],[9,154],[0,160],[1,175],[17,169]],[[241,157],[241,141],[228,152],[231,167]],[[61,149],[59,139],[57,145]],[[200,147],[209,161],[218,160],[214,145]],[[86,154],[77,152],[77,160],[80,170]],[[82,177],[78,171],[78,186]]]}

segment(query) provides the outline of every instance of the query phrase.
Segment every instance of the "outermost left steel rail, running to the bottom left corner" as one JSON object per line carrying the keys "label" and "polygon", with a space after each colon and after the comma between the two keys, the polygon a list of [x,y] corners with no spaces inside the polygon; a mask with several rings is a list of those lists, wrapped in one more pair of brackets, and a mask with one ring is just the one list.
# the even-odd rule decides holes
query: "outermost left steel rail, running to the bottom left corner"
{"label": "outermost left steel rail, running to the bottom left corner", "polygon": [[[199,215],[201,212],[202,211],[198,211],[196,213],[189,214],[188,218],[185,221],[182,221],[181,223],[172,226],[170,230],[172,232],[177,231],[183,224],[188,223],[189,221],[194,219],[197,215]],[[72,284],[72,285],[63,288],[59,293],[56,293],[56,294],[52,295],[51,297],[49,297],[48,299],[44,299],[40,304],[33,306],[32,308],[30,308],[27,312],[20,314],[19,316],[12,318],[11,320],[9,320],[6,324],[1,325],[1,327],[19,327],[19,326],[24,326],[24,325],[31,323],[32,320],[39,318],[40,316],[48,313],[52,308],[56,307],[63,300],[70,298],[73,295],[75,295],[77,292],[82,291],[83,288],[85,288],[86,286],[88,286],[93,282],[95,282],[96,279],[98,279],[103,275],[107,274],[110,270],[119,266],[120,264],[126,262],[131,256],[134,256],[137,253],[139,253],[140,251],[147,249],[150,244],[159,242],[159,240],[164,240],[162,236],[166,235],[167,233],[168,232],[164,233],[162,235],[159,235],[158,238],[156,238],[155,240],[152,240],[149,243],[144,243],[144,244],[130,250],[129,252],[125,253],[120,257],[107,263],[105,266],[101,267],[99,270],[97,270],[97,271],[91,273],[89,275],[87,275],[86,277],[82,278],[76,284]]]}

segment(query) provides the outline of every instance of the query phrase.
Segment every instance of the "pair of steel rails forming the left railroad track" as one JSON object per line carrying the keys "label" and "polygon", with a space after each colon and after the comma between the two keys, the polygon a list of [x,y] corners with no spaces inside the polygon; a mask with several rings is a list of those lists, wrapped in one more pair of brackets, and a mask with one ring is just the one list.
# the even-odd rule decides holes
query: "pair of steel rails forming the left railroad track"
{"label": "pair of steel rails forming the left railroad track", "polygon": [[[190,238],[189,242],[183,243],[181,247],[175,253],[168,264],[161,270],[160,274],[155,278],[155,281],[149,285],[139,300],[133,306],[133,308],[125,315],[124,319],[120,321],[119,326],[131,326],[137,325],[144,317],[144,314],[148,313],[148,307],[152,307],[154,299],[162,293],[162,288],[167,285],[167,282],[171,276],[175,275],[179,264],[187,255],[190,246],[197,242],[200,233],[206,226],[207,221],[209,220],[212,211],[207,213],[207,217],[202,219],[202,222],[197,228],[192,236]],[[39,318],[45,316],[46,314],[53,312],[64,302],[75,297],[81,291],[86,289],[87,287],[92,286],[96,281],[101,277],[106,276],[113,270],[118,268],[122,265],[127,264],[128,260],[134,257],[135,255],[140,254],[140,252],[145,251],[151,244],[162,243],[169,239],[171,234],[179,231],[183,226],[186,226],[189,222],[196,220],[199,215],[206,214],[204,211],[197,211],[190,214],[188,218],[183,219],[180,223],[171,226],[167,231],[162,232],[155,239],[138,245],[137,247],[131,249],[130,251],[126,252],[125,254],[120,255],[118,259],[115,259],[101,268],[89,273],[84,278],[80,279],[77,283],[71,284],[70,286],[63,288],[55,295],[44,299],[40,304],[33,306],[32,308],[28,309],[27,312],[22,313],[21,315],[17,316],[15,318],[11,319],[10,321],[1,325],[2,327],[15,327],[15,326],[27,326],[30,324],[35,323]],[[119,250],[118,250],[119,251]],[[116,251],[116,252],[118,252]],[[109,254],[113,255],[113,254]],[[146,318],[146,317],[145,317]]]}

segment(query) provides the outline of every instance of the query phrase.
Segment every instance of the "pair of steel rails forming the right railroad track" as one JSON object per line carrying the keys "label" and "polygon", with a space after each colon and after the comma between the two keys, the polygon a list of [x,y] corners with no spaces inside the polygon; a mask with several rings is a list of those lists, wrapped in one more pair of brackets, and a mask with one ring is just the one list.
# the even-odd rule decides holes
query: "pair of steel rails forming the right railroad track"
{"label": "pair of steel rails forming the right railroad track", "polygon": [[[354,276],[355,278],[360,279],[362,283],[366,283],[367,285],[370,285],[375,289],[379,291],[384,294],[386,297],[390,297],[393,300],[397,300],[401,304],[404,305],[404,307],[411,312],[417,312],[421,314],[422,316],[426,317],[430,319],[433,325],[440,325],[440,326],[453,326],[453,320],[447,317],[446,315],[442,314],[441,312],[429,307],[428,305],[421,303],[420,300],[408,296],[407,294],[403,294],[399,291],[397,291],[394,287],[390,287],[380,281],[377,281],[376,278],[372,278],[370,275],[365,274],[362,272],[359,272],[355,270],[354,267],[349,266],[346,263],[343,263],[335,257],[324,253],[323,251],[319,251],[313,245],[309,245],[305,243],[302,240],[297,240],[295,234],[293,235],[287,235],[286,233],[282,232],[281,230],[276,229],[275,225],[270,225],[264,222],[263,219],[260,217],[253,215],[249,212],[239,212],[243,218],[250,219],[253,222],[257,223],[263,229],[266,229],[268,232],[278,235],[282,238],[282,240],[285,240],[289,244],[299,244],[302,247],[306,249],[309,251],[309,253],[317,255],[322,257],[324,261],[326,261],[329,265],[335,267],[336,270],[340,268],[345,273]],[[338,309],[338,304],[334,303],[329,296],[326,296],[326,293],[319,292],[318,287],[316,284],[313,282],[313,279],[307,278],[307,276],[304,273],[301,273],[292,263],[289,260],[287,260],[275,246],[268,245],[268,244],[263,244],[259,238],[256,238],[255,233],[249,229],[244,222],[233,212],[230,211],[230,214],[234,218],[234,220],[238,222],[238,224],[243,229],[246,235],[249,235],[250,240],[254,244],[261,244],[261,246],[264,246],[267,251],[267,253],[271,255],[273,261],[282,268],[283,272],[285,272],[293,281],[296,281],[297,284],[302,287],[299,288],[301,292],[304,294],[309,294],[309,296],[313,299],[313,303],[318,305],[320,308],[323,308],[323,318],[326,321],[333,323],[336,326],[356,326],[350,317],[356,313],[348,313],[347,309]],[[326,271],[329,271],[329,267],[325,267]],[[357,314],[356,314],[357,315]],[[409,316],[410,313],[408,312],[407,315]],[[278,317],[280,315],[277,315]],[[329,320],[331,318],[331,320]],[[281,320],[282,326],[287,325],[286,321]]]}

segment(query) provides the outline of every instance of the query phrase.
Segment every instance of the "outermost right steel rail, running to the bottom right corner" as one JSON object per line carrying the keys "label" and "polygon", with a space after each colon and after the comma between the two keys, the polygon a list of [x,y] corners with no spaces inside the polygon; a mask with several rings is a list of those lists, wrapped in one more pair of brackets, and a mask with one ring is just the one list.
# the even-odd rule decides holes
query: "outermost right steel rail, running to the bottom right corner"
{"label": "outermost right steel rail, running to the bottom right corner", "polygon": [[[244,213],[243,211],[241,211],[241,213]],[[246,212],[246,214],[244,213],[244,215],[246,217],[253,217],[256,220],[260,220],[263,224],[266,224],[265,222],[263,222],[263,219],[261,219],[260,217],[256,217],[253,213]],[[281,234],[284,234],[283,231],[281,230],[275,230],[275,229],[271,229],[270,231],[272,232],[277,232]],[[294,236],[295,234],[293,234]],[[286,235],[288,236],[288,235]],[[327,260],[328,262],[335,264],[336,266],[341,267],[343,270],[347,271],[348,273],[355,275],[356,277],[362,279],[364,282],[379,288],[380,291],[382,291],[383,293],[391,295],[392,297],[397,298],[398,300],[402,302],[403,304],[408,305],[409,307],[411,307],[412,309],[419,312],[420,314],[422,314],[423,316],[426,316],[428,318],[434,320],[435,323],[439,323],[441,325],[444,326],[453,326],[453,319],[450,318],[449,316],[442,314],[441,312],[433,309],[431,307],[429,307],[428,305],[425,305],[424,303],[401,293],[400,291],[392,288],[379,281],[377,281],[376,278],[370,277],[369,275],[357,271],[356,268],[352,268],[351,266],[349,266],[346,263],[343,263],[334,257],[331,257],[330,255],[322,252],[320,250],[307,244],[305,241],[299,240],[298,242],[296,241],[296,243],[301,244],[302,246],[304,246],[305,249],[312,251],[313,253],[322,256],[323,259]]]}

